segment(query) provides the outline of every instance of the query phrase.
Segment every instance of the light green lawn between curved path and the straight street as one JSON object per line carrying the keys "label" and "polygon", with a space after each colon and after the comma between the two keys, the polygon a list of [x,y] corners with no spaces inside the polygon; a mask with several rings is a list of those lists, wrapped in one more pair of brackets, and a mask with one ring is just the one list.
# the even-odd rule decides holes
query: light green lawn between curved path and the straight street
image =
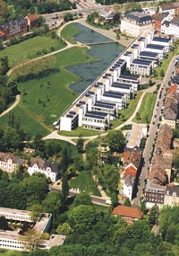
{"label": "light green lawn between curved path and the straight street", "polygon": [[143,124],[143,123],[147,123],[147,120],[148,120],[148,122],[150,123],[154,106],[156,103],[156,99],[157,99],[157,94],[146,93],[141,103],[141,109],[139,110],[140,119],[137,119],[135,117],[133,121],[136,123]]}

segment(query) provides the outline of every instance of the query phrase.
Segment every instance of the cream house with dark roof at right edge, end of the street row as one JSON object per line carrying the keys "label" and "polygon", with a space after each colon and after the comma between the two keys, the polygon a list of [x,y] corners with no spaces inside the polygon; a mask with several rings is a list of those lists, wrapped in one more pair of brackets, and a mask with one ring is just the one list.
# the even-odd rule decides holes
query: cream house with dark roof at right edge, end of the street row
{"label": "cream house with dark roof at right edge, end of the street row", "polygon": [[166,187],[164,205],[170,207],[179,206],[179,187]]}

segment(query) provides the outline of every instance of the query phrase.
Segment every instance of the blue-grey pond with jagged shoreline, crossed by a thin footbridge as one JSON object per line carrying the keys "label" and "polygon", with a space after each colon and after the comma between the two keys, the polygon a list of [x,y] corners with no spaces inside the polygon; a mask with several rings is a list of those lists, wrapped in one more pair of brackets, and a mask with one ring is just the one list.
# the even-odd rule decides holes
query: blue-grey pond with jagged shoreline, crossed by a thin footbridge
{"label": "blue-grey pond with jagged shoreline, crossed by a thin footbridge", "polygon": [[[81,29],[81,32],[74,37],[76,41],[80,41],[85,44],[113,41],[96,31],[92,31],[89,28],[82,26],[81,24],[77,24],[76,26]],[[98,61],[68,66],[68,70],[81,76],[81,81],[71,84],[70,88],[75,93],[82,93],[123,50],[124,46],[118,43],[106,43],[90,46],[87,54],[92,57],[97,57]]]}

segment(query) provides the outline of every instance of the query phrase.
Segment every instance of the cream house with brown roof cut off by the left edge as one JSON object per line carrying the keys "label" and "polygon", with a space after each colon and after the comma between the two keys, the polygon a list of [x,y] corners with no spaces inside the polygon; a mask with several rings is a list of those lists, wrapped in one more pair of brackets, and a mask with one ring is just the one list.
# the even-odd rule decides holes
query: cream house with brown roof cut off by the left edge
{"label": "cream house with brown roof cut off by the left edge", "polygon": [[4,172],[16,172],[20,166],[23,164],[21,157],[0,152],[0,169]]}

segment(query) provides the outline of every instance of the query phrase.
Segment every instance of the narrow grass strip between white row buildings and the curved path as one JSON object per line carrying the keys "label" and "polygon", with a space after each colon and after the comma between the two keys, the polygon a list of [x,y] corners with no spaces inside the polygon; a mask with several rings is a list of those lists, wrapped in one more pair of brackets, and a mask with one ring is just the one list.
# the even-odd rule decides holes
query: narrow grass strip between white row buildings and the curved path
{"label": "narrow grass strip between white row buildings and the curved path", "polygon": [[139,102],[140,98],[141,92],[137,92],[135,98],[128,102],[127,108],[119,111],[119,119],[115,119],[111,122],[111,128],[116,128],[120,126],[132,116],[132,113],[136,109],[137,103]]}

